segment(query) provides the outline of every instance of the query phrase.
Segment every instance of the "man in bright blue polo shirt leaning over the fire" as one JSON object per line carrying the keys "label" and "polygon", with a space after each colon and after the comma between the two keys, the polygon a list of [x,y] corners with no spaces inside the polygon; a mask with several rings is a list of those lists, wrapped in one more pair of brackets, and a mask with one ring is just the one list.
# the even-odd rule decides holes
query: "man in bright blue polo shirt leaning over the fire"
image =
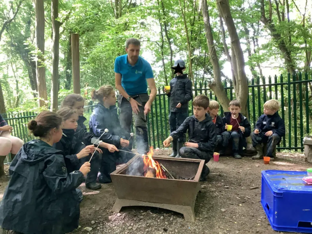
{"label": "man in bright blue polo shirt leaning over the fire", "polygon": [[[119,91],[119,119],[121,126],[131,132],[132,112],[134,112],[136,145],[139,154],[149,151],[146,115],[156,97],[153,70],[148,61],[139,56],[140,41],[129,38],[126,41],[127,54],[115,59],[115,83]],[[147,85],[151,90],[147,93]]]}

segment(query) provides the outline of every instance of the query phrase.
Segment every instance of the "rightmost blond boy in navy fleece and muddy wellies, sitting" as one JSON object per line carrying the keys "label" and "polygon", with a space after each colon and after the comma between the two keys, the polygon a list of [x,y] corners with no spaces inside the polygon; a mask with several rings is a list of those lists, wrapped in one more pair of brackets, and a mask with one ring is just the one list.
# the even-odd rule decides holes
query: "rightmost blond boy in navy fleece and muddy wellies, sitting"
{"label": "rightmost blond boy in navy fleece and muddy wellies, sitting", "polygon": [[257,150],[257,155],[253,156],[252,159],[263,157],[262,143],[267,143],[265,155],[274,161],[273,152],[276,145],[285,136],[285,123],[277,112],[279,109],[280,103],[275,99],[268,100],[263,105],[264,114],[260,116],[253,133],[251,133],[252,145]]}

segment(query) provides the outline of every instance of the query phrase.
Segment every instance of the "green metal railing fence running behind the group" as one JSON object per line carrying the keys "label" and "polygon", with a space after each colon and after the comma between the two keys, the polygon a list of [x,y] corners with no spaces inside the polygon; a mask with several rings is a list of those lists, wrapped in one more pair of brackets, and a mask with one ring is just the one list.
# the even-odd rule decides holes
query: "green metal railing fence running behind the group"
{"label": "green metal railing fence running behind the group", "polygon": [[[297,76],[290,76],[285,79],[281,76],[269,76],[266,80],[258,78],[252,79],[248,84],[249,95],[247,100],[247,112],[251,122],[251,126],[256,124],[259,116],[263,111],[263,104],[272,98],[281,102],[280,116],[285,121],[286,135],[283,137],[278,150],[303,150],[302,139],[310,133],[310,120],[312,120],[312,74],[299,73]],[[266,83],[268,81],[268,83]],[[234,88],[232,82],[224,82],[224,88],[230,100],[235,99]],[[207,82],[197,83],[193,86],[193,96],[205,94],[210,99],[217,100],[216,95],[209,89]],[[85,106],[85,117],[90,118],[94,105]],[[223,116],[222,107],[219,114]],[[6,113],[2,117],[9,125],[13,127],[12,135],[23,139],[25,142],[34,139],[28,133],[27,122],[34,118],[37,113]],[[159,87],[158,94],[151,107],[151,113],[147,119],[149,132],[149,145],[161,147],[162,142],[169,135],[169,98]],[[193,115],[192,101],[189,102],[188,115]],[[85,123],[88,127],[88,123]],[[133,126],[132,126],[133,131]],[[134,131],[133,131],[134,132]],[[134,146],[135,147],[135,146]],[[6,162],[10,162],[7,157]]]}

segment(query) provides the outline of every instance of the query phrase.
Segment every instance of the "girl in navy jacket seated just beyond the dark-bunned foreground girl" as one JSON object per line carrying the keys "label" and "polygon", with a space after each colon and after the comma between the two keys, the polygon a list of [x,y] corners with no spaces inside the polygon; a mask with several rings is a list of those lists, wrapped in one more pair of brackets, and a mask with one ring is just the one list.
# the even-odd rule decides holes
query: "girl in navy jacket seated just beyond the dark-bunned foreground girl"
{"label": "girl in navy jacket seated just beyond the dark-bunned foreground girl", "polygon": [[[78,114],[76,110],[73,110],[69,107],[63,107],[57,111],[63,118],[63,134],[59,142],[55,143],[53,147],[55,149],[61,150],[63,152],[64,160],[66,163],[66,168],[68,172],[77,170],[81,164],[88,162],[92,153],[95,150],[94,145],[91,144],[91,138],[94,137],[90,134],[89,139],[83,139],[83,136],[78,136],[75,134],[77,129],[77,120]],[[82,141],[88,142],[88,145],[85,146]],[[95,152],[90,163],[91,171],[88,173],[85,180],[85,187],[95,190],[101,188],[101,184],[96,183],[97,173],[99,172],[100,167],[100,154]],[[77,193],[80,195],[80,200],[82,199],[82,194],[79,190]]]}

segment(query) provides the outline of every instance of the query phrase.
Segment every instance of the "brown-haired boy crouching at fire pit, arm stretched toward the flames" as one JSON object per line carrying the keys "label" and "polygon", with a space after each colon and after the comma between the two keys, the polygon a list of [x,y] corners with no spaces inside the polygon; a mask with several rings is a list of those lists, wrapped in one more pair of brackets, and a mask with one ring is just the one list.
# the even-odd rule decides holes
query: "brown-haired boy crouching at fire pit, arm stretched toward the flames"
{"label": "brown-haired boy crouching at fire pit, arm stretched toward the flames", "polygon": [[202,169],[201,181],[206,180],[209,168],[206,163],[212,158],[216,147],[216,126],[213,124],[210,115],[207,114],[209,98],[206,95],[198,95],[193,100],[194,115],[186,118],[180,127],[170,133],[164,140],[163,145],[168,147],[174,139],[180,138],[188,130],[188,142],[182,147],[179,154],[182,158],[195,158],[205,160]]}

